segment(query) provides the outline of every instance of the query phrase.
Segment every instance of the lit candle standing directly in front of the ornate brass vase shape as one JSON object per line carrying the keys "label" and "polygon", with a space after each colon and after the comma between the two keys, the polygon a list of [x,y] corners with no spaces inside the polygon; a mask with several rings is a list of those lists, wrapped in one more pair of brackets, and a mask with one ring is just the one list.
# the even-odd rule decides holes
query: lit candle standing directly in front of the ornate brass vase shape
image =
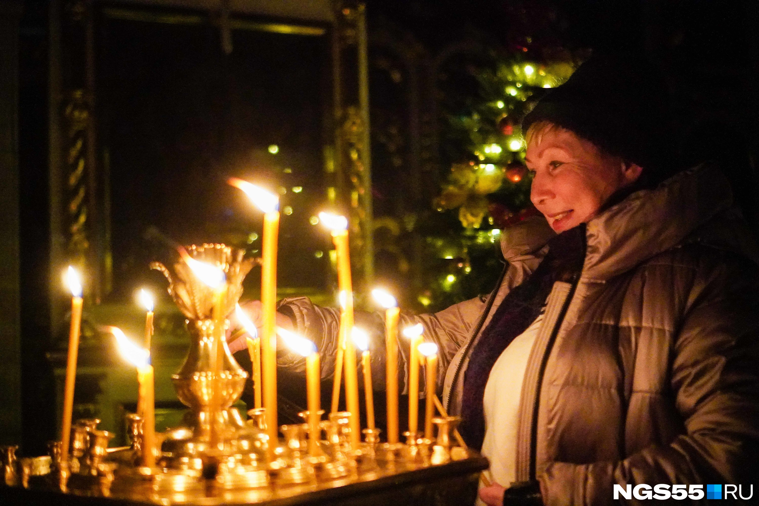
{"label": "lit candle standing directly in front of the ornate brass vase shape", "polygon": [[184,262],[192,269],[192,272],[200,281],[203,281],[213,290],[213,343],[209,347],[210,369],[212,372],[212,393],[211,393],[211,420],[210,420],[210,442],[209,445],[216,447],[219,445],[219,431],[216,420],[219,410],[221,409],[221,385],[219,379],[222,373],[222,363],[224,361],[224,340],[225,317],[224,303],[227,295],[227,277],[224,271],[212,264],[199,262],[191,256],[184,258]]}

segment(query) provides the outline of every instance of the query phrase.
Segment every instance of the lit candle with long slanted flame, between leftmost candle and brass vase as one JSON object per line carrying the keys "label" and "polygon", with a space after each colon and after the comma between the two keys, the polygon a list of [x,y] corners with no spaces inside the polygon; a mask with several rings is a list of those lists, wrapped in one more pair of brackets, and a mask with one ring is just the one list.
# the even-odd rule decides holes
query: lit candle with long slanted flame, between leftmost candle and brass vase
{"label": "lit candle with long slanted flame, between leftmost candle and brass vase", "polygon": [[137,367],[137,404],[143,405],[143,466],[156,465],[156,397],[153,366],[150,365],[150,351],[130,341],[118,327],[109,327],[116,338],[121,356]]}

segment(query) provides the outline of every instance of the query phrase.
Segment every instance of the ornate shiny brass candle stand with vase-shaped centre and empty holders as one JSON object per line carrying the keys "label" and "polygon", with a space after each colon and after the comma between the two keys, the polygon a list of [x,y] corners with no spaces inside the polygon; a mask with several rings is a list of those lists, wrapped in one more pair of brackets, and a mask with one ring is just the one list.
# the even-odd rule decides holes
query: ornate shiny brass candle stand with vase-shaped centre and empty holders
{"label": "ornate shiny brass candle stand with vase-shaped centre and empty holders", "polygon": [[[221,244],[191,246],[186,251],[224,270],[227,290],[222,302],[225,314],[231,313],[254,260],[244,259],[242,250]],[[283,437],[270,441],[263,408],[248,411],[247,421],[231,409],[247,374],[225,340],[217,340],[225,333],[218,332],[218,322],[211,318],[214,292],[186,262],[178,262],[171,270],[158,263],[153,267],[168,279],[168,293],[187,316],[192,338],[184,365],[172,376],[179,400],[189,408],[183,426],[158,435],[153,448],[156,465],[145,467],[140,416],[128,415],[131,445],[124,448],[108,448],[112,434],[97,428],[99,420],[77,420],[71,429],[67,462],[61,462],[59,442],[49,446],[48,456],[20,460],[14,447],[2,447],[6,486],[143,503],[242,504],[298,495],[320,497],[345,486],[364,489],[367,483],[402,482],[402,476],[411,476],[408,473],[434,468],[442,476],[456,462],[467,462],[459,467],[470,478],[487,467],[487,460],[453,443],[459,419],[452,416],[433,420],[434,441],[407,434],[405,444],[391,445],[380,442],[378,429],[364,429],[364,442],[354,448],[351,413],[329,413],[319,424],[317,445],[309,447],[312,435],[306,423],[308,412],[303,412],[304,423],[280,426]],[[224,320],[223,325],[228,322]],[[221,360],[214,360],[214,352]],[[269,451],[271,446],[273,451]],[[464,482],[476,489],[476,478],[470,478]]]}

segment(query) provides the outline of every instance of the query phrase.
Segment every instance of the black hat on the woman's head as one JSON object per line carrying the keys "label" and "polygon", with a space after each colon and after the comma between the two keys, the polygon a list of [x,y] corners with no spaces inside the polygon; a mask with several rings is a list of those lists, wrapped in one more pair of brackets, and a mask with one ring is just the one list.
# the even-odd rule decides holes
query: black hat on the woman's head
{"label": "black hat on the woman's head", "polygon": [[653,183],[673,171],[670,116],[666,85],[652,64],[629,55],[594,54],[537,102],[522,131],[550,121],[641,165]]}

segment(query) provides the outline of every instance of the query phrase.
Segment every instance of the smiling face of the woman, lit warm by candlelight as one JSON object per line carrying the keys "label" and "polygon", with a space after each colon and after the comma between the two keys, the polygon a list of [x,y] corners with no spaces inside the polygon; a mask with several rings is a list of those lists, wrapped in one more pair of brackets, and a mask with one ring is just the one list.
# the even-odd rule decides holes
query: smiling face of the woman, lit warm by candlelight
{"label": "smiling face of the woman, lit warm by candlelight", "polygon": [[531,139],[525,162],[534,173],[530,200],[557,233],[593,218],[612,193],[633,183],[642,170],[556,127]]}

